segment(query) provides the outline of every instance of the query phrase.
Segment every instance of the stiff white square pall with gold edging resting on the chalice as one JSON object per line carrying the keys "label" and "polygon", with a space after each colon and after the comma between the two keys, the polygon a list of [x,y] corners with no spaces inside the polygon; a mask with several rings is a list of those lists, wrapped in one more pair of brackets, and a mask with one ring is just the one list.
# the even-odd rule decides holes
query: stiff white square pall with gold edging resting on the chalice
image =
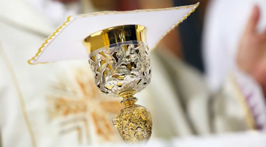
{"label": "stiff white square pall with gold edging resting on the chalice", "polygon": [[90,34],[110,27],[141,25],[147,29],[147,44],[150,49],[174,27],[185,20],[199,3],[189,6],[133,11],[103,11],[68,16],[56,31],[49,36],[37,54],[28,63],[44,63],[68,59],[87,59],[82,44]]}

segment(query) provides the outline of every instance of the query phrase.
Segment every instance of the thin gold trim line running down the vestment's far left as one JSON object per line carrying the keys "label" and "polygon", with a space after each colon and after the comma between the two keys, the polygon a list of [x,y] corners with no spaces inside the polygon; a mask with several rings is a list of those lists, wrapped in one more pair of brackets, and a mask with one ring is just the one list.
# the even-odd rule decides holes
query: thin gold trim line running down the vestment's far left
{"label": "thin gold trim line running down the vestment's far left", "polygon": [[0,55],[2,55],[4,64],[6,65],[6,68],[7,68],[8,72],[10,73],[11,79],[12,79],[13,84],[15,86],[15,89],[17,91],[17,94],[18,94],[18,97],[19,97],[20,106],[21,106],[21,109],[22,109],[23,118],[25,120],[25,123],[26,123],[27,128],[28,128],[29,133],[30,133],[32,146],[36,147],[34,132],[33,132],[33,129],[32,129],[32,126],[31,126],[31,123],[30,123],[30,120],[29,120],[29,117],[28,117],[28,114],[27,114],[27,111],[26,111],[26,107],[25,107],[25,102],[24,102],[24,99],[23,99],[22,91],[21,91],[21,89],[19,87],[19,83],[18,83],[18,80],[16,78],[15,72],[14,72],[14,70],[12,68],[12,65],[9,62],[9,60],[8,60],[8,58],[7,58],[7,56],[6,56],[5,52],[4,52],[4,49],[3,49],[2,45],[1,45],[1,42],[0,42],[0,53],[1,53]]}

